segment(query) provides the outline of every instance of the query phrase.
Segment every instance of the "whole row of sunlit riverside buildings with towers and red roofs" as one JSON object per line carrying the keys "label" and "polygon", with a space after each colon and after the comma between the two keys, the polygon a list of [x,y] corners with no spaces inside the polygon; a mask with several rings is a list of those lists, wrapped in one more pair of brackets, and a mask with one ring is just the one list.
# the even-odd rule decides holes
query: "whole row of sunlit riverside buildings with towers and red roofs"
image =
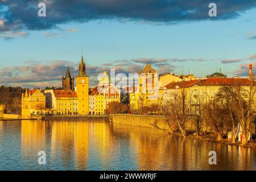
{"label": "whole row of sunlit riverside buildings with towers and red roofs", "polygon": [[[118,89],[113,85],[107,71],[104,71],[96,87],[89,90],[89,76],[85,73],[83,56],[79,65],[79,75],[71,77],[69,67],[62,78],[62,90],[26,90],[22,94],[22,116],[32,114],[57,115],[102,115],[109,113],[111,102],[122,102],[131,110],[140,110],[145,106],[167,105],[170,100],[183,90],[187,104],[215,102],[218,89],[224,85],[234,85],[239,80],[242,86],[249,86],[252,76],[250,65],[249,78],[228,78],[223,73],[216,72],[205,78],[195,78],[194,75],[174,75],[167,73],[158,77],[158,72],[148,63],[139,70],[138,84]],[[246,90],[245,93],[246,95]]]}

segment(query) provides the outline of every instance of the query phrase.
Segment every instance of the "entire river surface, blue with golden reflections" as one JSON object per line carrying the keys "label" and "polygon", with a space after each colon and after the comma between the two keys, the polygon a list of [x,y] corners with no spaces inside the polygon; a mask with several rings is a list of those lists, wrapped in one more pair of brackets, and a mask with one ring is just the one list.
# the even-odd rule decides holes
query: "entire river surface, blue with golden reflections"
{"label": "entire river surface, blue with golden reflections", "polygon": [[0,121],[0,170],[256,170],[256,149],[112,123]]}

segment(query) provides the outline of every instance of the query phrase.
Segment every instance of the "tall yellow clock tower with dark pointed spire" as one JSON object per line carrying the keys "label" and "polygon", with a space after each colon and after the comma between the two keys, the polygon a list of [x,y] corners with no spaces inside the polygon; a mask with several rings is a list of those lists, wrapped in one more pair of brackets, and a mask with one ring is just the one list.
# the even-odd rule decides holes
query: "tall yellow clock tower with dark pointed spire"
{"label": "tall yellow clock tower with dark pointed spire", "polygon": [[89,76],[85,73],[83,57],[79,65],[79,76],[76,77],[76,92],[78,97],[78,113],[89,114]]}

